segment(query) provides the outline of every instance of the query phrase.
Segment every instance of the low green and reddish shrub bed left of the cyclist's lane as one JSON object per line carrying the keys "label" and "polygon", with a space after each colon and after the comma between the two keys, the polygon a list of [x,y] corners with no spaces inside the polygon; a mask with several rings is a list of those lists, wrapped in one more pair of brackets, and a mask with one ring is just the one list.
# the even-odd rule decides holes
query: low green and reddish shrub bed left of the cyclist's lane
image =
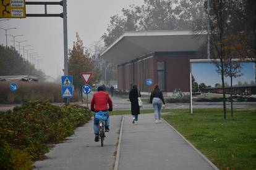
{"label": "low green and reddish shrub bed left of the cyclist's lane", "polygon": [[64,140],[91,118],[79,105],[57,106],[39,100],[0,115],[0,169],[32,169],[49,144]]}

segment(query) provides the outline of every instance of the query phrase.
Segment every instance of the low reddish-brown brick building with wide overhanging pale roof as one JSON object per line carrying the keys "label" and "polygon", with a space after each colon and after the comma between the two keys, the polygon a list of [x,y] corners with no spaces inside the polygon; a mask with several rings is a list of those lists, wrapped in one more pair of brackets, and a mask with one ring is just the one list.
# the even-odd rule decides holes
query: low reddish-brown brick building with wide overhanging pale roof
{"label": "low reddish-brown brick building with wide overhanging pale roof", "polygon": [[147,92],[146,79],[151,78],[164,92],[189,92],[189,60],[202,59],[198,50],[206,40],[207,33],[192,31],[129,31],[101,57],[117,64],[118,89],[129,90],[135,83]]}

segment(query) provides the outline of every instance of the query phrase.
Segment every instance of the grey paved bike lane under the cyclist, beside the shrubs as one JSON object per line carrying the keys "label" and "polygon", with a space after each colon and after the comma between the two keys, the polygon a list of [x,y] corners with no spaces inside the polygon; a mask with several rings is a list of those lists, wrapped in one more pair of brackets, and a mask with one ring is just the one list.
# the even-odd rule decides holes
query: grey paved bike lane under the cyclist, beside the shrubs
{"label": "grey paved bike lane under the cyclist, beside the shrubs", "polygon": [[66,142],[46,153],[46,160],[36,161],[35,169],[113,169],[120,124],[121,116],[111,116],[110,132],[101,147],[100,142],[94,142],[93,120],[89,121],[77,128]]}

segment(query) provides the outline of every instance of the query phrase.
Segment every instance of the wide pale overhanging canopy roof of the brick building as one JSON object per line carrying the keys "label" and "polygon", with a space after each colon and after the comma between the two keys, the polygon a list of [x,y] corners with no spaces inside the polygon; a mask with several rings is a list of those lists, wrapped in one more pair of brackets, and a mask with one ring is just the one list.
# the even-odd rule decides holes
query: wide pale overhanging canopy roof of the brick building
{"label": "wide pale overhanging canopy roof of the brick building", "polygon": [[101,57],[122,64],[150,52],[198,51],[206,42],[207,32],[193,31],[128,31],[111,44]]}

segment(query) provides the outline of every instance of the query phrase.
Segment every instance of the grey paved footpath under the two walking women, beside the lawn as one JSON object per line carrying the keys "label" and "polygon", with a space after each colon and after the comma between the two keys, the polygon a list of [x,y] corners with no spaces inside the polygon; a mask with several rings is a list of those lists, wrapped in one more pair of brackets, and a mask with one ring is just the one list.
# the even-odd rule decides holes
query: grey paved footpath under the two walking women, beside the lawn
{"label": "grey paved footpath under the two walking women, beside the lawn", "polygon": [[131,122],[125,116],[119,170],[214,169],[168,124],[155,124],[153,114]]}

